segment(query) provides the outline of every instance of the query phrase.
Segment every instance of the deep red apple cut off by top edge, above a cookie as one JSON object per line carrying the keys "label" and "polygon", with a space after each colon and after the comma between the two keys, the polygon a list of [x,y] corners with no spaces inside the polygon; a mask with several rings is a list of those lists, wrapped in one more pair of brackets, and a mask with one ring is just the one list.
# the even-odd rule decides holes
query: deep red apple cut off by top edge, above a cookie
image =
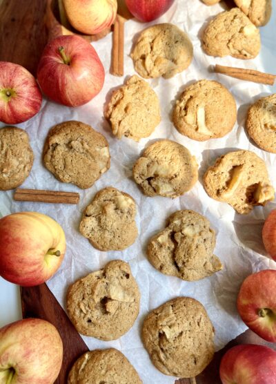
{"label": "deep red apple cut off by top edge, above a cookie", "polygon": [[174,0],[126,0],[128,9],[141,21],[152,21],[162,16]]}

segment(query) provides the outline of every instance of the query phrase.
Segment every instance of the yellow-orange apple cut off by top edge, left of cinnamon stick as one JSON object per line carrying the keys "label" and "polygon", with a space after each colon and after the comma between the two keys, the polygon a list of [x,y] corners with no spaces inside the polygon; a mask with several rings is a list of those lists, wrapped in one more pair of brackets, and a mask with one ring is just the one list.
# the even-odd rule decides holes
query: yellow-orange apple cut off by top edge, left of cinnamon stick
{"label": "yellow-orange apple cut off by top edge, left of cinnamon stick", "polygon": [[117,0],[63,0],[70,24],[86,35],[109,28],[117,14]]}

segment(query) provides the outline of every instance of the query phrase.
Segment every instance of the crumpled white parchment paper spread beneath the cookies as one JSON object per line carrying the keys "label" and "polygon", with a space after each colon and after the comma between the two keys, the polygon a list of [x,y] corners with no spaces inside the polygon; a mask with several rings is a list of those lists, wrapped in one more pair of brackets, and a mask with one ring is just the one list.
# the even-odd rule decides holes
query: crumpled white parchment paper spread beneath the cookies
{"label": "crumpled white parchment paper spread beneath the cookies", "polygon": [[[200,37],[204,26],[211,17],[226,9],[223,2],[213,7],[207,7],[199,0],[178,0],[166,15],[151,23],[168,21],[188,32],[193,41],[194,59],[188,70],[172,79],[149,80],[150,85],[159,96],[162,120],[155,132],[146,140],[141,140],[139,143],[126,138],[117,140],[112,136],[108,123],[103,118],[103,105],[109,99],[111,91],[121,86],[126,77],[135,73],[129,53],[137,33],[147,26],[135,20],[126,23],[126,76],[124,78],[113,77],[109,73],[112,37],[108,35],[93,44],[106,69],[106,81],[101,93],[92,102],[79,108],[68,108],[44,98],[39,114],[30,121],[19,124],[30,135],[30,143],[35,155],[30,176],[22,187],[77,191],[81,195],[81,200],[77,206],[21,203],[12,200],[13,191],[1,192],[0,213],[6,215],[17,211],[39,211],[52,216],[63,227],[67,239],[66,257],[59,271],[48,281],[48,287],[63,308],[65,307],[66,290],[72,282],[86,276],[90,271],[103,267],[109,260],[119,258],[130,263],[132,273],[141,291],[141,308],[135,325],[119,340],[104,342],[88,337],[84,337],[84,340],[90,349],[106,347],[120,349],[135,366],[145,384],[172,384],[175,381],[175,378],[165,376],[155,369],[141,343],[141,325],[148,311],[176,296],[196,298],[208,311],[216,331],[216,349],[220,349],[246,329],[235,307],[237,292],[244,278],[259,269],[268,267],[275,269],[275,263],[264,256],[266,253],[262,244],[262,225],[270,210],[276,208],[276,203],[271,202],[264,208],[257,207],[250,215],[242,216],[235,213],[227,204],[210,199],[202,186],[204,172],[217,157],[234,148],[243,148],[257,153],[266,161],[270,179],[276,187],[276,156],[257,148],[252,141],[248,140],[244,130],[249,104],[261,96],[275,93],[276,88],[215,75],[210,73],[208,69],[210,65],[217,63],[276,73],[276,0],[273,0],[273,6],[274,13],[270,23],[261,28],[262,52],[257,59],[250,61],[242,61],[232,57],[223,59],[209,57],[201,49]],[[184,87],[193,81],[205,78],[220,81],[233,93],[238,106],[237,123],[233,131],[224,138],[209,140],[208,142],[196,142],[176,131],[170,121],[170,113],[175,99]],[[82,191],[71,184],[58,182],[46,170],[41,161],[43,143],[50,127],[69,119],[77,119],[90,124],[106,136],[110,145],[110,170],[102,175],[92,188],[86,191]],[[175,200],[161,197],[147,198],[132,180],[132,165],[144,147],[157,138],[165,137],[187,146],[199,164],[199,181],[192,191]],[[94,249],[88,240],[81,236],[78,227],[81,213],[91,202],[95,193],[110,185],[135,198],[138,207],[139,237],[135,244],[124,251],[101,252]],[[194,209],[206,215],[210,220],[217,233],[215,254],[224,264],[223,271],[198,282],[184,282],[175,277],[165,276],[150,265],[145,253],[147,241],[152,234],[164,228],[168,215],[178,209]]]}

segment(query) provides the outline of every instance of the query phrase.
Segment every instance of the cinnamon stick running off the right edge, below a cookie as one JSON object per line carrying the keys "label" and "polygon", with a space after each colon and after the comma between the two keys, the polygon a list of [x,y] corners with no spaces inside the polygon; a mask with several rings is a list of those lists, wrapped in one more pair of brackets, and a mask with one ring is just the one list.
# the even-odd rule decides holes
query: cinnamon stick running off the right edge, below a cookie
{"label": "cinnamon stick running off the right edge, below a cookie", "polygon": [[227,75],[230,77],[235,77],[236,79],[253,81],[254,83],[267,84],[273,86],[275,82],[276,75],[270,75],[269,73],[259,72],[254,69],[244,69],[244,68],[233,68],[227,66],[215,65],[215,73],[221,73],[222,75]]}

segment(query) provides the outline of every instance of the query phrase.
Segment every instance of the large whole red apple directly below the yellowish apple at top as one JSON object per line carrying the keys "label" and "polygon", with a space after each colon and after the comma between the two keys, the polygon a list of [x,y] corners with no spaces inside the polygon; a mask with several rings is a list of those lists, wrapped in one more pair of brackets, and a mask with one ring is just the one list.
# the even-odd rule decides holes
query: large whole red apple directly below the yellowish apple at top
{"label": "large whole red apple directly below the yellowish apple at top", "polygon": [[80,106],[103,87],[104,69],[88,41],[77,35],[59,36],[43,50],[37,79],[50,99]]}

